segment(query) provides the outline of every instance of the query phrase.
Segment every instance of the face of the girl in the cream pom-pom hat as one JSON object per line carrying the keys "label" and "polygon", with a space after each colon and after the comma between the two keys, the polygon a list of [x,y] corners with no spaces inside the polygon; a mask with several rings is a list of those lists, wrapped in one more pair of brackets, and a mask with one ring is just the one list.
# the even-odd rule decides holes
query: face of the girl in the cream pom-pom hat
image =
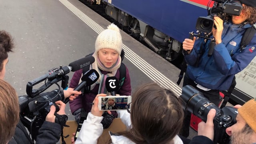
{"label": "face of the girl in the cream pom-pom hat", "polygon": [[116,50],[112,50],[109,48],[103,48],[98,51],[98,57],[100,59],[100,62],[104,64],[106,68],[110,68],[113,66],[113,64],[116,63],[118,59],[118,52]]}

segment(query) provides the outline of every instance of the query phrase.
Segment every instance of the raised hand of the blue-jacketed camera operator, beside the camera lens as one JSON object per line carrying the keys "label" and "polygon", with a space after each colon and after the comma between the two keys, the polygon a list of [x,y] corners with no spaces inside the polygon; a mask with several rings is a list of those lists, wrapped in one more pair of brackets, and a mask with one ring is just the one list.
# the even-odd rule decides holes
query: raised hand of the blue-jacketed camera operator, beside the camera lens
{"label": "raised hand of the blue-jacketed camera operator, beside the camera lens", "polygon": [[214,25],[216,28],[212,28],[212,35],[216,40],[215,44],[220,44],[222,42],[223,20],[218,16],[214,16]]}

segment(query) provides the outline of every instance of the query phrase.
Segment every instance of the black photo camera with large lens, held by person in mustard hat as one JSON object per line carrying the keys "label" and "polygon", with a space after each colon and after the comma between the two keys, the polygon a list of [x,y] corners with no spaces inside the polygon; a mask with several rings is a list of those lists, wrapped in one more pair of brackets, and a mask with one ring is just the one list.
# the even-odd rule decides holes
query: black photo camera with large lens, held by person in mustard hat
{"label": "black photo camera with large lens, held by person in mustard hat", "polygon": [[186,110],[201,118],[204,122],[207,120],[208,112],[214,108],[216,116],[214,117],[214,144],[229,144],[230,138],[226,134],[226,128],[236,123],[237,109],[226,106],[222,109],[210,102],[201,92],[194,87],[187,85],[182,88],[182,98],[186,103]]}

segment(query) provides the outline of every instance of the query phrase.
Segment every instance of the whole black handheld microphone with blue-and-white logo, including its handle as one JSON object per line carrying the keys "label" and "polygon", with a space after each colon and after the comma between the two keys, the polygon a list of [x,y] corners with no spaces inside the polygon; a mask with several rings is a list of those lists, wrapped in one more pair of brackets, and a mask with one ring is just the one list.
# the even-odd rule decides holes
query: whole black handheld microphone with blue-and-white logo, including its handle
{"label": "whole black handheld microphone with blue-and-white logo, including its handle", "polygon": [[[88,70],[81,78],[82,82],[80,84],[78,84],[78,86],[76,86],[76,88],[74,88],[74,90],[76,91],[80,91],[82,90],[82,88],[84,88],[84,86],[90,86],[92,84],[94,84],[100,77],[100,74],[94,70],[94,69],[91,69],[91,70]],[[66,98],[65,99],[65,104],[69,102],[69,98]]]}

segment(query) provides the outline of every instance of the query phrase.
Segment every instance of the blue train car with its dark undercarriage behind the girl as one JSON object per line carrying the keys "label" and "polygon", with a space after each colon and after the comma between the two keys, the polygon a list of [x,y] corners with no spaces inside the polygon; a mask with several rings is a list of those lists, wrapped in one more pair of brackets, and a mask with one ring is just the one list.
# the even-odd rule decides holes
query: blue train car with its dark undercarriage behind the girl
{"label": "blue train car with its dark undercarriage behind the girl", "polygon": [[[194,2],[193,2],[194,1]],[[196,2],[197,1],[197,2]],[[168,61],[181,54],[181,42],[195,31],[199,16],[207,16],[202,0],[103,0],[106,14]]]}

